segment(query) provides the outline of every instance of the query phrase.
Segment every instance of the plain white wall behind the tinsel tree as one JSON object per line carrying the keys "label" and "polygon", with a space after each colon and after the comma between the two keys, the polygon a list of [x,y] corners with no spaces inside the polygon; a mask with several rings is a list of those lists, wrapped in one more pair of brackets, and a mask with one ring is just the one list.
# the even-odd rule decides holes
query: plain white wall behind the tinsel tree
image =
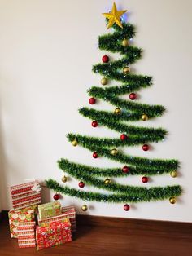
{"label": "plain white wall behind the tinsel tree", "polygon": [[[9,187],[13,184],[24,179],[60,181],[63,173],[56,164],[60,157],[93,166],[120,166],[107,159],[95,161],[91,152],[72,147],[65,137],[68,132],[119,136],[104,127],[93,129],[77,112],[89,106],[86,90],[100,86],[100,76],[91,68],[105,53],[98,51],[97,38],[107,33],[101,13],[111,4],[101,0],[0,0],[2,209],[11,208]],[[141,186],[179,183],[184,193],[176,205],[168,201],[132,204],[129,212],[123,204],[87,202],[85,214],[190,222],[192,2],[121,0],[116,4],[129,9],[129,21],[137,26],[134,44],[144,49],[134,68],[154,77],[154,86],[140,91],[140,101],[168,109],[164,117],[148,122],[169,130],[168,139],[154,143],[151,152],[142,152],[140,147],[126,152],[181,161],[176,179],[155,176],[146,185],[138,176],[116,180]],[[94,108],[114,109],[103,102]],[[77,183],[71,179],[68,185]],[[90,189],[95,190],[85,187],[85,191]],[[53,195],[44,194],[46,200]],[[80,209],[83,202],[64,196],[63,204]]]}

